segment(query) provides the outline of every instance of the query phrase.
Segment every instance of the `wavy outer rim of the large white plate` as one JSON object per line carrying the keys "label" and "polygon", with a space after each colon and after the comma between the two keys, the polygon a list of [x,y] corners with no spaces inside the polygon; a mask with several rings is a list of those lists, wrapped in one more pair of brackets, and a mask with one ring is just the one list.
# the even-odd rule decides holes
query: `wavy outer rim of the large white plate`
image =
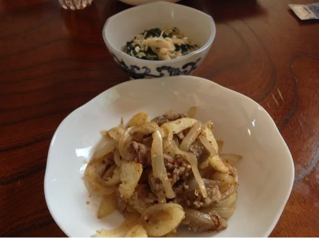
{"label": "wavy outer rim of the large white plate", "polygon": [[[269,235],[271,234],[271,232],[274,230],[275,226],[277,225],[283,211],[284,211],[284,208],[286,207],[286,204],[290,198],[290,195],[291,195],[291,192],[292,192],[292,189],[293,189],[293,185],[294,185],[294,177],[295,177],[295,165],[294,165],[294,160],[293,160],[293,157],[291,155],[291,152],[289,150],[289,147],[286,143],[286,141],[284,140],[283,136],[281,135],[278,127],[276,126],[273,118],[270,116],[270,114],[268,113],[268,111],[263,108],[258,102],[254,101],[253,99],[251,99],[250,97],[240,93],[240,92],[237,92],[235,90],[232,90],[232,89],[229,89],[227,87],[224,87],[222,85],[219,85],[218,83],[216,82],[213,82],[209,79],[204,79],[204,78],[200,78],[200,77],[195,77],[195,76],[166,76],[166,77],[162,77],[162,78],[156,78],[156,79],[150,79],[150,80],[174,80],[174,78],[188,78],[188,79],[191,79],[191,80],[197,80],[197,81],[206,81],[206,82],[209,82],[213,85],[216,85],[218,86],[220,89],[222,90],[226,90],[226,91],[229,91],[231,93],[234,93],[235,95],[240,95],[241,97],[245,98],[246,100],[249,100],[251,102],[253,102],[256,106],[259,106],[265,113],[265,116],[268,118],[268,120],[270,120],[271,124],[273,127],[275,127],[275,130],[276,132],[278,133],[278,136],[280,138],[280,140],[282,141],[283,143],[283,150],[286,151],[287,153],[287,156],[289,158],[289,164],[287,163],[287,166],[290,167],[290,171],[291,171],[291,174],[290,175],[290,184],[289,186],[287,186],[288,190],[287,190],[287,193],[285,195],[285,198],[281,201],[281,204],[280,204],[280,208],[279,210],[277,211],[277,213],[274,215],[274,218],[271,222],[271,224],[269,225],[267,231],[265,232],[264,234],[264,237],[269,237]],[[135,83],[136,81],[142,81],[142,80],[145,80],[145,79],[136,79],[136,80],[130,80],[130,81],[125,81],[125,82],[122,82],[122,83],[119,83],[117,85],[114,85],[106,90],[104,90],[103,92],[99,93],[98,95],[96,95],[95,97],[93,97],[91,100],[89,100],[88,102],[84,103],[82,106],[79,106],[78,108],[76,108],[75,110],[73,110],[72,112],[70,112],[62,121],[61,123],[59,124],[59,126],[57,127],[56,131],[54,132],[54,135],[52,137],[52,140],[50,142],[50,146],[49,146],[49,150],[48,150],[48,156],[47,156],[47,162],[46,162],[46,168],[45,168],[45,174],[44,174],[44,183],[43,183],[43,187],[44,187],[44,197],[45,197],[45,202],[46,202],[46,205],[48,207],[48,210],[53,218],[53,220],[55,221],[55,223],[59,226],[59,228],[68,236],[68,237],[71,237],[70,233],[66,231],[65,227],[63,226],[63,224],[59,221],[58,217],[56,216],[56,213],[54,213],[54,210],[52,209],[51,207],[51,204],[50,204],[50,199],[48,198],[48,187],[49,187],[49,181],[48,181],[48,170],[52,167],[52,166],[48,166],[49,164],[49,161],[53,160],[52,159],[52,156],[51,155],[51,151],[52,151],[52,146],[54,144],[54,141],[55,141],[55,137],[56,137],[56,134],[58,132],[58,130],[61,128],[61,126],[67,121],[67,119],[69,117],[71,117],[71,115],[73,115],[74,113],[76,113],[77,111],[83,109],[84,107],[87,107],[89,106],[91,103],[95,102],[102,94],[106,93],[107,91],[111,91],[114,87],[117,87],[119,85],[123,85],[123,84],[131,84],[131,83]],[[287,175],[288,176],[288,175]]]}

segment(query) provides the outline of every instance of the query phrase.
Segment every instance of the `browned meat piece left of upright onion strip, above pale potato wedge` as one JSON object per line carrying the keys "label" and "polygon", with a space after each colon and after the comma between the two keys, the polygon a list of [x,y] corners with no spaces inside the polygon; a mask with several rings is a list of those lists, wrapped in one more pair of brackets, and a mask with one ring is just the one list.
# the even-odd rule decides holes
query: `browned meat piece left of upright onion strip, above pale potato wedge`
{"label": "browned meat piece left of upright onion strip, above pale potato wedge", "polygon": [[133,141],[125,147],[125,150],[131,154],[130,161],[142,163],[144,167],[151,164],[151,149],[149,147]]}

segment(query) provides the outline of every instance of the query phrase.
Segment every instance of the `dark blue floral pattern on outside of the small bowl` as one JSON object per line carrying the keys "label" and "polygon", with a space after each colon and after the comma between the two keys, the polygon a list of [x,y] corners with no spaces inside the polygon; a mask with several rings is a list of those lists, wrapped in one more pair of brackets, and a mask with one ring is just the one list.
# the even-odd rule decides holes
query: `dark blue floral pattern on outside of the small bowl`
{"label": "dark blue floral pattern on outside of the small bowl", "polygon": [[[189,75],[197,68],[197,63],[201,58],[197,59],[195,62],[189,62],[184,64],[181,69],[173,68],[170,66],[157,67],[156,70],[159,72],[158,75],[151,74],[151,69],[147,66],[143,66],[142,69],[136,65],[127,66],[123,60],[119,60],[113,53],[111,53],[115,62],[122,68],[122,70],[129,75],[131,79],[148,79],[148,78],[160,78],[164,76],[176,76],[176,75]],[[163,72],[167,72],[164,74]]]}

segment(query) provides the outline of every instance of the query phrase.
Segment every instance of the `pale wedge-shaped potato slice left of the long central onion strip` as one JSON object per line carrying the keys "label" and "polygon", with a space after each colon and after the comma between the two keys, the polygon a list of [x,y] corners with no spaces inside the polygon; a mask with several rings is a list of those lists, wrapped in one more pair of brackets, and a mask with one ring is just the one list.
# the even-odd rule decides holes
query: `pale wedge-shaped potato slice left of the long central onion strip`
{"label": "pale wedge-shaped potato slice left of the long central onion strip", "polygon": [[135,187],[138,185],[143,166],[141,163],[135,162],[123,162],[121,166],[121,184],[119,186],[119,192],[125,202],[128,202]]}

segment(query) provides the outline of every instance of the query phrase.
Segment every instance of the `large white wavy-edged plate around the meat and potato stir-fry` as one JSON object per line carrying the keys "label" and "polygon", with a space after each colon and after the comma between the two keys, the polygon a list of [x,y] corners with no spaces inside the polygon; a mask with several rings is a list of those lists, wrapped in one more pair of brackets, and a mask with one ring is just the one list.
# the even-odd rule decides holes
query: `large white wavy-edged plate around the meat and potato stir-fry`
{"label": "large white wavy-edged plate around the meat and potato stir-fry", "polygon": [[[44,179],[45,199],[59,227],[69,237],[90,237],[97,229],[123,222],[118,212],[96,218],[98,201],[83,183],[83,171],[97,144],[100,130],[127,122],[135,113],[150,117],[168,109],[214,122],[223,153],[244,157],[238,165],[237,208],[220,237],[267,237],[289,198],[294,164],[289,149],[269,114],[250,98],[206,79],[177,76],[142,79],[116,85],[67,116],[51,142]],[[90,204],[87,205],[86,202]],[[210,237],[180,229],[179,236]]]}

